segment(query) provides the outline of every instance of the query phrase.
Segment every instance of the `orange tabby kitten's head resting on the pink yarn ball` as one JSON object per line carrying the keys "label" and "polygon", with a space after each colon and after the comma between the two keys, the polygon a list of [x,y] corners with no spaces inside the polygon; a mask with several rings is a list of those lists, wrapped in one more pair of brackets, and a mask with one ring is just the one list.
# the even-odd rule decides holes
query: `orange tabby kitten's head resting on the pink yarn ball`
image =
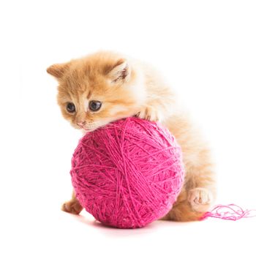
{"label": "orange tabby kitten's head resting on the pink yarn ball", "polygon": [[140,70],[116,53],[99,52],[54,64],[47,72],[59,81],[64,118],[86,132],[135,115],[145,101]]}

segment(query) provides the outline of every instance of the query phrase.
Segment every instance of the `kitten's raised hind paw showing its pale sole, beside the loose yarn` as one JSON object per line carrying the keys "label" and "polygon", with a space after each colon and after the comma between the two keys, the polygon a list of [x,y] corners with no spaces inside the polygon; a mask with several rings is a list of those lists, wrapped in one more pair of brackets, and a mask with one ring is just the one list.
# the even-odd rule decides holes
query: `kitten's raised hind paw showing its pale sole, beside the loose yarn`
{"label": "kitten's raised hind paw showing its pale sole, beside the loose yarn", "polygon": [[208,211],[211,206],[213,197],[208,189],[197,187],[196,189],[190,189],[187,199],[192,206],[193,210],[198,212]]}

